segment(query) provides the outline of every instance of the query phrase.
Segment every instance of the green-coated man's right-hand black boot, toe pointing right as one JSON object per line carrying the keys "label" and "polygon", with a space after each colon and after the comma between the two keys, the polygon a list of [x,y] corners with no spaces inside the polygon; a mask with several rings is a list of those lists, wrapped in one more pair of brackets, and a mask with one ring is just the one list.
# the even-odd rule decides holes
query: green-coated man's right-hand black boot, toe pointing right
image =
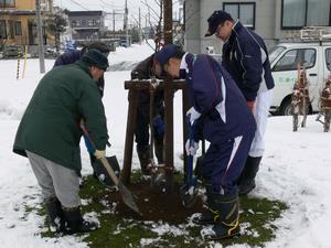
{"label": "green-coated man's right-hand black boot, toe pointing right", "polygon": [[81,207],[64,208],[67,234],[88,233],[96,230],[98,225],[82,217]]}

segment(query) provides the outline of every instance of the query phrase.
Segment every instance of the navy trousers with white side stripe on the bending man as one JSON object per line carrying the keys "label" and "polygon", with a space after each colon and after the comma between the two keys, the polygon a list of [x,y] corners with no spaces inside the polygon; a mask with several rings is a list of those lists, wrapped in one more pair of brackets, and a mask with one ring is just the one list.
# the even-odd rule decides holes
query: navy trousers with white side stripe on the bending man
{"label": "navy trousers with white side stripe on the bending man", "polygon": [[237,192],[237,180],[245,166],[254,132],[211,143],[203,160],[202,174],[214,194]]}

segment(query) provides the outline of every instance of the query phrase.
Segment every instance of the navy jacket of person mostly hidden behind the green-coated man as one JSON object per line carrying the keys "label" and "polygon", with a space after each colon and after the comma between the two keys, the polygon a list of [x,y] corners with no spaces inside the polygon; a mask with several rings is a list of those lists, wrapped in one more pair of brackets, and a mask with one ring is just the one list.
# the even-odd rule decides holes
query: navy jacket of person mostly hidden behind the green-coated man
{"label": "navy jacket of person mostly hidden behind the green-coated man", "polygon": [[[84,55],[85,50],[75,50],[75,51],[70,51],[64,54],[61,54],[53,67],[61,66],[61,65],[68,65],[68,64],[74,64],[76,61],[79,61],[79,58]],[[105,78],[102,76],[99,80],[97,82],[97,86],[99,88],[99,93],[102,97],[104,96],[104,89],[105,89]]]}

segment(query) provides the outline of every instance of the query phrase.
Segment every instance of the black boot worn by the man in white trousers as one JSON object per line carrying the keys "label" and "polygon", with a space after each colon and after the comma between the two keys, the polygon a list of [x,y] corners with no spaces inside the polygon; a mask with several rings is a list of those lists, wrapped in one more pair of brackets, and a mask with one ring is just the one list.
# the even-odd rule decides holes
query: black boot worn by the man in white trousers
{"label": "black boot worn by the man in white trousers", "polygon": [[247,195],[255,188],[255,176],[258,172],[261,157],[249,157],[247,158],[245,168],[238,180],[238,193],[239,195]]}

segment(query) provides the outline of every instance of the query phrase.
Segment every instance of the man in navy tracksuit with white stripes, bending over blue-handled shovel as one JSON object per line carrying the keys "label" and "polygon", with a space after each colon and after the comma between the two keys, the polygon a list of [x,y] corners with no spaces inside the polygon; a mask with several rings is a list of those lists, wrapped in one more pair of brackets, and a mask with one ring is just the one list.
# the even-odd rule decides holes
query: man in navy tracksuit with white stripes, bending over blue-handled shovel
{"label": "man in navy tracksuit with white stripes, bending over blue-handled shovel", "polygon": [[196,222],[214,225],[214,234],[206,239],[238,235],[237,180],[256,130],[254,116],[233,78],[212,56],[169,44],[156,60],[170,76],[188,83],[191,108],[186,117],[197,130],[194,144],[185,143],[186,153],[195,154],[201,139],[210,142],[202,162],[209,209]]}

